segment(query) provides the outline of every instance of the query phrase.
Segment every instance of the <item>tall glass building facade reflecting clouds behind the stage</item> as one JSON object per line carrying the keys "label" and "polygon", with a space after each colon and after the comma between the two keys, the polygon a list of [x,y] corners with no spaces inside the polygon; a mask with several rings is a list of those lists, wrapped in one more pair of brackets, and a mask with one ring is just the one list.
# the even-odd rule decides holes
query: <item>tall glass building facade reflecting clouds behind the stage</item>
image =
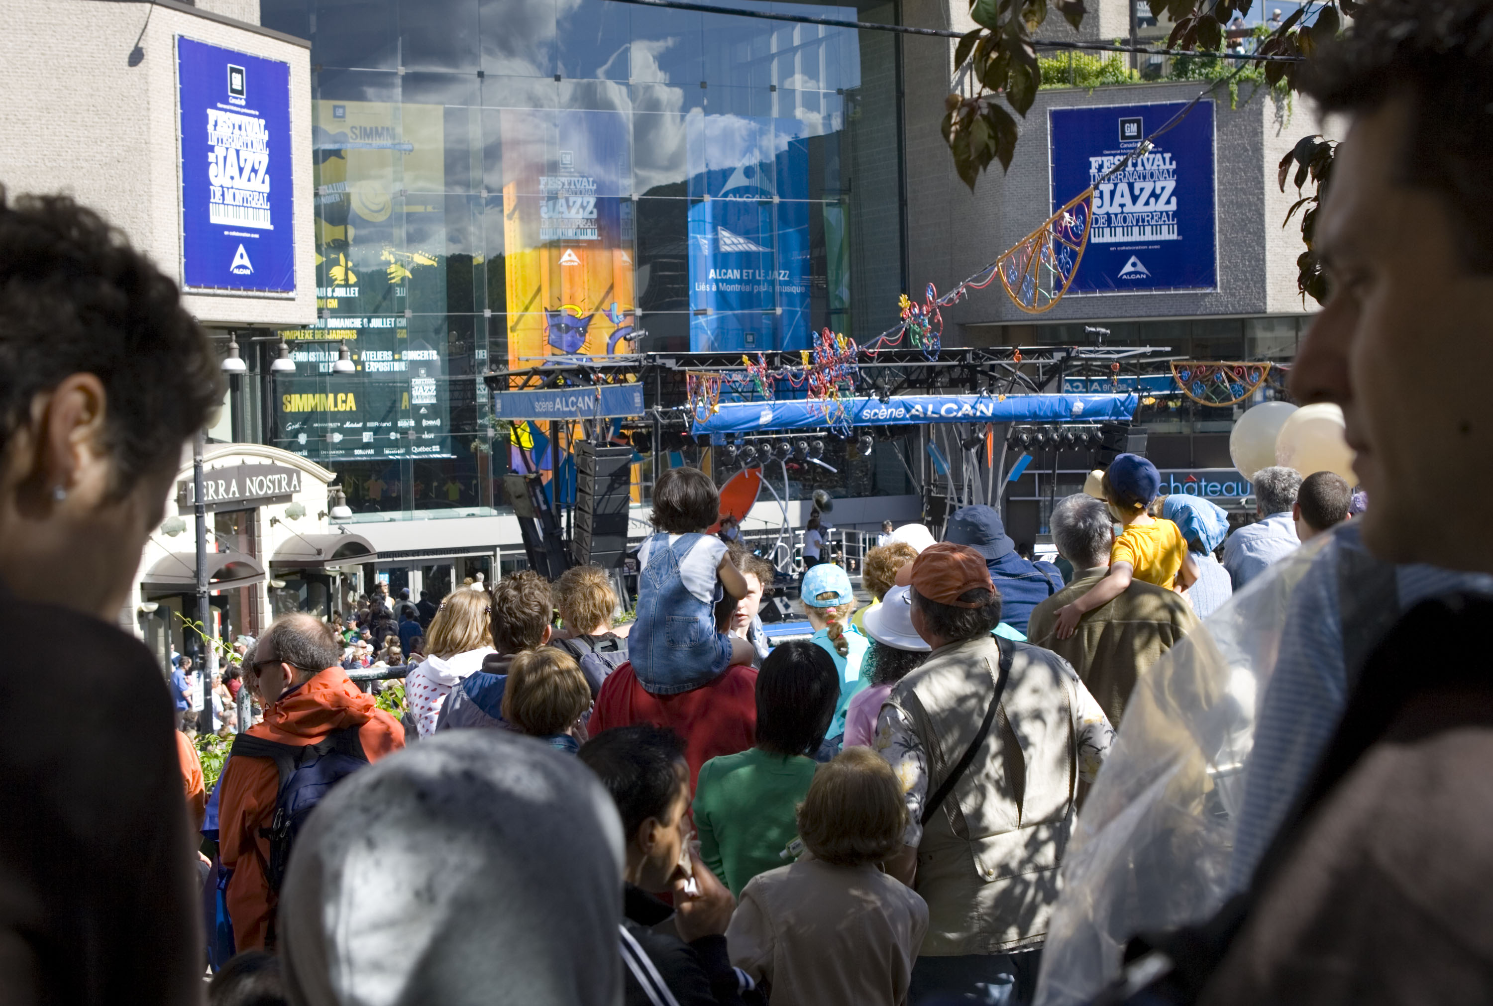
{"label": "tall glass building facade reflecting clouds behind the stage", "polygon": [[488,370],[896,321],[887,33],[608,0],[263,0],[261,22],[312,40],[320,316],[257,419],[355,512],[503,504]]}

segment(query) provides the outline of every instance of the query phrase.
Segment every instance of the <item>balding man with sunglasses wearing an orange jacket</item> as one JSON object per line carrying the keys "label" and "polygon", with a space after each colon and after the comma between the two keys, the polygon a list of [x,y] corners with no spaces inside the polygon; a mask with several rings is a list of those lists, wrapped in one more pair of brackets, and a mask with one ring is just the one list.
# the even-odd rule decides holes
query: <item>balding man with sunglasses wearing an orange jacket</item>
{"label": "balding man with sunglasses wearing an orange jacket", "polygon": [[[251,737],[284,745],[312,745],[357,727],[369,761],[405,746],[405,728],[348,681],[339,661],[342,646],[330,625],[312,615],[282,615],[264,630],[246,667],[267,702],[264,721]],[[255,681],[257,679],[257,681]],[[228,916],[239,952],[267,946],[275,915],[269,882],[270,840],[260,834],[275,816],[279,772],[269,758],[234,757],[222,769],[218,797],[218,852],[233,870]]]}

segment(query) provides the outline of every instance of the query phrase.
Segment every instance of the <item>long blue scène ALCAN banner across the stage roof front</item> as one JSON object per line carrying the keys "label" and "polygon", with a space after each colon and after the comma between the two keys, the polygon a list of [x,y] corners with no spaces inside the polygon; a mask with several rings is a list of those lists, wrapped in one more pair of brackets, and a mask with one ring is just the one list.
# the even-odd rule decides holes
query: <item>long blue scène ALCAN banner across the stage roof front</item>
{"label": "long blue sc\u00e8ne ALCAN banner across the stage roof front", "polygon": [[839,404],[787,402],[723,402],[694,433],[767,433],[841,425],[833,409],[844,407],[851,425],[923,422],[1103,422],[1129,419],[1133,394],[903,394],[888,402],[853,399]]}

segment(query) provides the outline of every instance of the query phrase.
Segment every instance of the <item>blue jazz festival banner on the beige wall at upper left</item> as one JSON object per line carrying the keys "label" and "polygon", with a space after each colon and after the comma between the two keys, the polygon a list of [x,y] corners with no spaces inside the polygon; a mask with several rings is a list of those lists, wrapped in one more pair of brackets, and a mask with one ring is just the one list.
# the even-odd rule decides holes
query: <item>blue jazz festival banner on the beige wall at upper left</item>
{"label": "blue jazz festival banner on the beige wall at upper left", "polygon": [[176,37],[182,287],[296,293],[290,64]]}

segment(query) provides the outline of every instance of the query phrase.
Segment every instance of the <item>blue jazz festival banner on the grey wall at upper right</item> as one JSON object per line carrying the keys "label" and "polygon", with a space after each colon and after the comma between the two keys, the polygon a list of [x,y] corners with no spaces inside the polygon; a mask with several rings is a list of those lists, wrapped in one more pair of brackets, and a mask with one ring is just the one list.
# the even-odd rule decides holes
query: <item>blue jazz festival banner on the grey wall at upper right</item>
{"label": "blue jazz festival banner on the grey wall at upper right", "polygon": [[1069,296],[1218,288],[1212,101],[1199,101],[1150,152],[1099,181],[1185,104],[1048,109],[1053,212],[1097,184]]}

